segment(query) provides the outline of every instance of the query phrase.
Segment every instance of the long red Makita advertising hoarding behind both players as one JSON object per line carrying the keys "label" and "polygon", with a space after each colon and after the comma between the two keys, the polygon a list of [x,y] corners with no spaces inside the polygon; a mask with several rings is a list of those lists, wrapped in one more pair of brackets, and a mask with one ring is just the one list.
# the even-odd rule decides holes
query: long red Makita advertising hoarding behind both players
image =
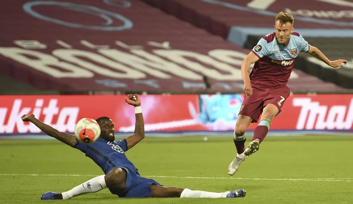
{"label": "long red Makita advertising hoarding behind both players", "polygon": [[[0,96],[0,134],[40,133],[21,116],[34,115],[50,126],[73,132],[83,117],[110,117],[116,132],[133,132],[134,109],[125,95]],[[234,95],[141,95],[145,130],[233,130],[243,96]],[[353,95],[291,95],[275,117],[271,130],[352,129]],[[255,129],[252,123],[249,129]]]}

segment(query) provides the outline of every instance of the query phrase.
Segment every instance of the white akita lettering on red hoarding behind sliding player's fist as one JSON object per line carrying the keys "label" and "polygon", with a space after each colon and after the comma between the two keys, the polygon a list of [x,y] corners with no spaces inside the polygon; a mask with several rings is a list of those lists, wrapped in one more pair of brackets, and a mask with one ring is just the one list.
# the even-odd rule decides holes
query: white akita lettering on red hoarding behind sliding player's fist
{"label": "white akita lettering on red hoarding behind sliding player's fist", "polygon": [[[37,99],[35,104],[31,104],[32,107],[34,106],[32,108],[22,105],[22,99],[15,99],[11,110],[0,107],[0,133],[14,133],[15,129],[18,133],[40,133],[41,130],[34,124],[25,125],[22,121],[21,116],[30,113],[60,132],[74,132],[79,107],[63,107],[60,109],[57,106],[58,99],[50,99],[46,107],[43,107],[43,104],[44,99]],[[6,117],[7,113],[9,113],[8,117]],[[53,124],[54,117],[58,118],[56,124]],[[7,121],[7,124],[5,124],[5,121]]]}

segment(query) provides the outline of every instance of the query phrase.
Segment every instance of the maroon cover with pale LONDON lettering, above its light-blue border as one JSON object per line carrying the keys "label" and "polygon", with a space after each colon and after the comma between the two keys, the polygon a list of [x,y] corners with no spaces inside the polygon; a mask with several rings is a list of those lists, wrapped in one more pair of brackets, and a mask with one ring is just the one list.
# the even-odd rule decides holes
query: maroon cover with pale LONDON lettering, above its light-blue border
{"label": "maroon cover with pale LONDON lettering, above its light-blue border", "polygon": [[[296,0],[295,3],[289,4],[288,1],[276,0],[271,1],[272,3],[269,5],[264,5],[263,2],[254,5],[260,3],[261,0],[142,1],[225,39],[228,37],[229,29],[233,26],[273,28],[274,17],[280,11],[292,13],[297,17],[294,24],[295,28],[353,28],[351,22],[353,12],[346,11],[347,6],[343,3],[330,4],[317,0]],[[251,2],[253,5],[249,5]],[[311,17],[312,19],[304,19],[304,17]],[[318,22],[323,19],[329,19],[332,22]]]}

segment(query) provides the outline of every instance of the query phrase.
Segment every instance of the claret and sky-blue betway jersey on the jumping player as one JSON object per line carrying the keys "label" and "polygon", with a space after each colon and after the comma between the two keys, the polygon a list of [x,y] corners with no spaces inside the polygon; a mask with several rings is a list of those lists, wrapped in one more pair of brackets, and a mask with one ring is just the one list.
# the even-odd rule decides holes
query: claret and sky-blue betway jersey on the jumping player
{"label": "claret and sky-blue betway jersey on the jumping player", "polygon": [[300,52],[309,51],[309,44],[299,33],[292,33],[287,46],[277,41],[276,33],[262,37],[252,52],[259,57],[250,73],[251,83],[268,86],[286,85],[294,60]]}

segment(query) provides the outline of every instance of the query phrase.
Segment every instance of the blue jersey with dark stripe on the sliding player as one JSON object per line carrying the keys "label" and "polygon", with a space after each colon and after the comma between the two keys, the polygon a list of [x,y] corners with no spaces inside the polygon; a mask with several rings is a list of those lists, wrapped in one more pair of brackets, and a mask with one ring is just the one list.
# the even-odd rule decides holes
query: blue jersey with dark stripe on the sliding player
{"label": "blue jersey with dark stripe on the sliding player", "polygon": [[[125,155],[125,152],[127,151],[127,143],[125,139],[109,142],[98,138],[91,144],[84,144],[77,141],[77,145],[74,148],[85,153],[86,157],[91,158],[105,174],[108,174],[110,170],[117,167],[136,169]],[[137,169],[135,173],[138,174]]]}

